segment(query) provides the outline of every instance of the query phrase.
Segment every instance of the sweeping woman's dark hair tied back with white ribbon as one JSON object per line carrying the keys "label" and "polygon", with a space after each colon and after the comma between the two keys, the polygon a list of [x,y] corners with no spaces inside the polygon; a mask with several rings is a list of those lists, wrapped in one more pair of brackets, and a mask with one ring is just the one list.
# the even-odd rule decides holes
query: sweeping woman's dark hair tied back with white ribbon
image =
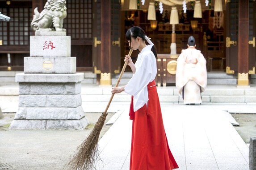
{"label": "sweeping woman's dark hair tied back with white ribbon", "polygon": [[[133,26],[132,28],[128,29],[126,32],[126,40],[127,41],[130,41],[131,37],[136,39],[137,36],[142,38],[143,41],[145,41],[146,33],[144,32],[144,30],[142,28],[140,28],[138,26]],[[153,47],[151,48],[151,51],[154,53],[155,58],[157,59],[155,45],[153,45]]]}

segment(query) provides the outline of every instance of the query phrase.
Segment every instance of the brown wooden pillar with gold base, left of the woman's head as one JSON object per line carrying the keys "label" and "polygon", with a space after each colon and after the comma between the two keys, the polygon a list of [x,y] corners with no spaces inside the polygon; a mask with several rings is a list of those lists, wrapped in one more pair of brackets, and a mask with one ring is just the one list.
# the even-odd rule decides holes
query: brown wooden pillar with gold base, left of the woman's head
{"label": "brown wooden pillar with gold base, left of the woman's head", "polygon": [[111,0],[101,1],[101,85],[111,85]]}

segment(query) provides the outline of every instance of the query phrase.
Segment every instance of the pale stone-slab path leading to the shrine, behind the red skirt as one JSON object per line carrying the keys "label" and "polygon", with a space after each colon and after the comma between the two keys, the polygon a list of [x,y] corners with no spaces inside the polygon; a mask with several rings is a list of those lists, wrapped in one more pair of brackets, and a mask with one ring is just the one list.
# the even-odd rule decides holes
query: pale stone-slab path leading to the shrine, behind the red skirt
{"label": "pale stone-slab path leading to the shrine, behind the red skirt", "polygon": [[[180,170],[249,170],[248,145],[224,115],[222,106],[161,106],[168,143]],[[233,109],[240,107],[243,106],[232,105]],[[99,170],[129,170],[128,111],[123,110],[101,138],[103,163]]]}

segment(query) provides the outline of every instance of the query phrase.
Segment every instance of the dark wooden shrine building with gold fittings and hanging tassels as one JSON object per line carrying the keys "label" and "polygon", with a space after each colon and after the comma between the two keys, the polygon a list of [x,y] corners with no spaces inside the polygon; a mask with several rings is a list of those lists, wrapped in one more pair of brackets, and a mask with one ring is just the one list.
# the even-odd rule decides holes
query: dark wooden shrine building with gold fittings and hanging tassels
{"label": "dark wooden shrine building with gold fittings and hanging tassels", "polygon": [[[10,17],[0,18],[0,78],[23,72],[35,35],[30,27],[34,9],[41,12],[46,2],[0,0],[1,14]],[[76,72],[93,74],[92,83],[112,84],[129,53],[125,33],[140,26],[157,49],[158,85],[175,85],[176,60],[191,35],[208,73],[229,75],[239,86],[256,84],[255,0],[66,0],[66,7],[63,28],[71,36]],[[44,46],[54,47],[50,42]],[[132,53],[134,62],[137,55],[138,50]]]}

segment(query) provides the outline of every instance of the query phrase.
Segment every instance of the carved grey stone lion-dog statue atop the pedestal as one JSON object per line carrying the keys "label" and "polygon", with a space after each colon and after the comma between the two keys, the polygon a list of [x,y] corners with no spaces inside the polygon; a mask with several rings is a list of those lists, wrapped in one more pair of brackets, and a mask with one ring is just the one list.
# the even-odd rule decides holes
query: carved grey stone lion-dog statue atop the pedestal
{"label": "carved grey stone lion-dog statue atop the pedestal", "polygon": [[50,26],[53,24],[56,31],[66,31],[63,28],[63,20],[67,16],[66,0],[47,0],[41,13],[38,8],[34,9],[34,16],[31,28],[34,31],[53,31]]}

